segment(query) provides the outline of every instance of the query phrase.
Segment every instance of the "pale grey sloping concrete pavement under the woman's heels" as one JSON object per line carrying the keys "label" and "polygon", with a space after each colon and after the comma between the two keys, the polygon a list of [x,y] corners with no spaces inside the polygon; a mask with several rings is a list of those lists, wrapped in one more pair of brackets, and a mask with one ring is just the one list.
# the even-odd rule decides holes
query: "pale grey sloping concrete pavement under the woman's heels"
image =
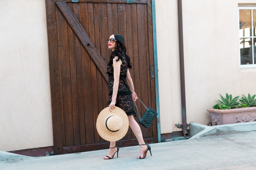
{"label": "pale grey sloping concrete pavement under the woman's heels", "polygon": [[150,146],[152,156],[148,152],[145,159],[136,159],[139,147],[134,146],[120,148],[119,157],[111,160],[104,160],[107,150],[100,150],[6,160],[0,170],[256,170],[256,131]]}

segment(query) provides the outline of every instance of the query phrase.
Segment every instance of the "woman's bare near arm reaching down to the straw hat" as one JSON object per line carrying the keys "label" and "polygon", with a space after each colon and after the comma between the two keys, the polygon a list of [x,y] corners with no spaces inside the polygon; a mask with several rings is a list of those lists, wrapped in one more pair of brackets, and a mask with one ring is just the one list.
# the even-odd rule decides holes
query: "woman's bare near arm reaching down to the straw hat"
{"label": "woman's bare near arm reaching down to the straw hat", "polygon": [[113,84],[113,94],[112,94],[112,102],[109,104],[109,110],[111,111],[111,108],[115,108],[115,103],[117,99],[117,91],[118,91],[118,85],[119,85],[119,76],[120,76],[120,69],[121,69],[121,60],[117,62],[117,56],[113,58],[113,67],[114,67],[114,84]]}

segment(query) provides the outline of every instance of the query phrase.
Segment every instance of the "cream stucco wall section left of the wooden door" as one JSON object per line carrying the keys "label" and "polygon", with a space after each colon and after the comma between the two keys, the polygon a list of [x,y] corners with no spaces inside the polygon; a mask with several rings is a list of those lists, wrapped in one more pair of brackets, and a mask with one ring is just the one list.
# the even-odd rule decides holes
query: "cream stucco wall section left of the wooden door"
{"label": "cream stucco wall section left of the wooden door", "polygon": [[0,150],[52,146],[45,0],[1,0],[0,16]]}

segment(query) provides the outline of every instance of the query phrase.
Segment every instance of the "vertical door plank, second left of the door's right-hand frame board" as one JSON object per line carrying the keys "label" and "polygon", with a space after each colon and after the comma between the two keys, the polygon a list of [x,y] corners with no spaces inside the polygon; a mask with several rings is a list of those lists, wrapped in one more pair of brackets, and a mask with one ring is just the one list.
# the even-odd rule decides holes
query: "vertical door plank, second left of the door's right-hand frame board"
{"label": "vertical door plank, second left of the door's right-hand frame board", "polygon": [[[133,74],[134,74],[134,88],[135,93],[140,98],[140,87],[139,87],[139,49],[138,49],[138,30],[137,30],[137,7],[136,4],[131,4],[131,16],[132,16],[132,58],[133,58]],[[141,104],[137,102],[138,110],[141,113]],[[135,108],[135,107],[134,107]],[[137,114],[136,114],[137,115]],[[136,136],[132,133],[132,138]]]}

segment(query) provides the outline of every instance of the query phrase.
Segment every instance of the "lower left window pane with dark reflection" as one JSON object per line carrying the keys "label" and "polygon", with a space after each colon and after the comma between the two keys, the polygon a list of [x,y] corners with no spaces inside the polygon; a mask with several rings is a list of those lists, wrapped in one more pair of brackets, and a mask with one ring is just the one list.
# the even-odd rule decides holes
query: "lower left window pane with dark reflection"
{"label": "lower left window pane with dark reflection", "polygon": [[252,64],[252,38],[240,38],[240,56],[241,65]]}

